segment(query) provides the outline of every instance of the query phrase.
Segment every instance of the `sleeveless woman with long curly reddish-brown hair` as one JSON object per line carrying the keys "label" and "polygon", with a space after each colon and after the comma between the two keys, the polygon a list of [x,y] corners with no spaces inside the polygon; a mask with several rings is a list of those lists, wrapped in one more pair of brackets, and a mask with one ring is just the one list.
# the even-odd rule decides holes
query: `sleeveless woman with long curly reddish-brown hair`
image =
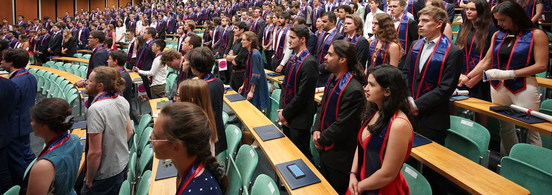
{"label": "sleeveless woman with long curly reddish-brown hair", "polygon": [[[395,30],[393,19],[389,14],[380,13],[374,16],[372,23],[372,31],[376,40],[370,43],[368,67],[381,64],[391,64],[391,66],[399,67],[399,59],[404,51],[399,42],[399,34]],[[364,70],[364,73],[367,69]]]}

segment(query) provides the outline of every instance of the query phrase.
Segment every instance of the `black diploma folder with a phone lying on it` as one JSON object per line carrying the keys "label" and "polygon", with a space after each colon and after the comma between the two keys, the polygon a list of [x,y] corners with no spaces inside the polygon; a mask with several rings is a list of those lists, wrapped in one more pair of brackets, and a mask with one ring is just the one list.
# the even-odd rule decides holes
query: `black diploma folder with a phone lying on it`
{"label": "black diploma folder with a phone lying on it", "polygon": [[[288,165],[296,164],[299,169],[305,174],[305,177],[295,178],[293,174],[288,170]],[[288,183],[291,189],[297,189],[300,187],[309,186],[314,183],[319,183],[320,178],[312,172],[312,170],[305,164],[302,159],[292,160],[286,163],[280,163],[276,165],[276,168],[284,177],[284,181]]]}

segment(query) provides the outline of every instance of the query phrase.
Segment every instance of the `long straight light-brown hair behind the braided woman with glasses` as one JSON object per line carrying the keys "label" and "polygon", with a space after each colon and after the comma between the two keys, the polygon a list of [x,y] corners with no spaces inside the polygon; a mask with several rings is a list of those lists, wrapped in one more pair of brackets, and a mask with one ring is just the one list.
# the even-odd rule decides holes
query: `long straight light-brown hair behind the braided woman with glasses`
{"label": "long straight light-brown hair behind the braided woman with glasses", "polygon": [[211,143],[217,142],[215,115],[211,106],[209,85],[201,79],[186,79],[178,85],[181,102],[192,102],[205,111],[211,129]]}

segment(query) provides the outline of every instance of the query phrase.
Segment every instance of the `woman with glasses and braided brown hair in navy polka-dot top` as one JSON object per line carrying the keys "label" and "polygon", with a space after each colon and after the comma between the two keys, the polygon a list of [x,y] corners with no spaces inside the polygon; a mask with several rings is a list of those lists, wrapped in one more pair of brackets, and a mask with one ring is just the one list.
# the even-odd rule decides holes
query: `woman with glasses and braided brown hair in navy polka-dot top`
{"label": "woman with glasses and braided brown hair in navy polka-dot top", "polygon": [[228,177],[210,150],[213,128],[193,103],[175,102],[161,110],[150,143],[156,158],[172,159],[178,171],[176,194],[226,194]]}

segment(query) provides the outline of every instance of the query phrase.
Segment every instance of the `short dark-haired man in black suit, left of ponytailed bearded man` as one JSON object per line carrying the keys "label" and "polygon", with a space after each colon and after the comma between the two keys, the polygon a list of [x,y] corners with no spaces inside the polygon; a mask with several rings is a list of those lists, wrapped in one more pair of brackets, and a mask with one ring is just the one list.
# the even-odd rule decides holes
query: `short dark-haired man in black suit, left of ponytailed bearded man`
{"label": "short dark-haired man in black suit, left of ponytailed bearded man", "polygon": [[309,39],[309,29],[305,25],[294,25],[289,29],[289,49],[295,51],[295,55],[285,66],[286,76],[282,82],[285,88],[280,94],[278,120],[284,124],[282,131],[285,136],[310,160],[309,129],[315,112],[312,99],[318,63],[307,49]]}

